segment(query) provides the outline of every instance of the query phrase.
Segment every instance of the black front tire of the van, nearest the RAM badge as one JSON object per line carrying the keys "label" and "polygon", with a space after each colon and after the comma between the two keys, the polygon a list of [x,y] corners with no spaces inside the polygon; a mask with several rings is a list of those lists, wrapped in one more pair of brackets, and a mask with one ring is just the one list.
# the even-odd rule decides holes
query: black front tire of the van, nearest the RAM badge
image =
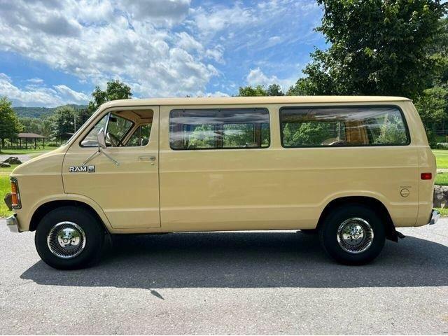
{"label": "black front tire of the van, nearest the RAM badge", "polygon": [[[69,223],[62,224],[63,222]],[[55,227],[55,225],[57,226]],[[74,232],[73,236],[79,234],[80,238],[76,240],[78,244],[73,240],[73,246],[69,246],[69,248],[73,248],[71,251],[57,246],[57,233],[62,229],[68,230],[66,231],[67,235],[71,235],[72,232]],[[48,238],[49,235],[50,238]],[[66,237],[70,239],[71,236],[59,238],[66,239]],[[84,244],[82,244],[83,242]],[[89,211],[80,207],[60,207],[50,211],[38,223],[34,236],[38,255],[46,264],[57,269],[79,269],[92,265],[101,254],[103,242],[104,228],[102,224],[98,223],[97,218]],[[53,246],[55,251],[52,251],[50,246]],[[57,255],[64,253],[66,253],[65,258]]]}

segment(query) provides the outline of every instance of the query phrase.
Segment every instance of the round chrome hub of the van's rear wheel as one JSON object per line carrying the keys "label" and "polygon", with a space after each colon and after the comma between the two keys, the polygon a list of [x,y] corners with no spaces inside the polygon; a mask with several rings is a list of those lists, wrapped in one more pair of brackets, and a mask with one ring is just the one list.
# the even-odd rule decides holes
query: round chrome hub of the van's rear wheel
{"label": "round chrome hub of the van's rear wheel", "polygon": [[337,229],[337,242],[349,253],[366,251],[373,242],[373,230],[363,218],[349,218]]}

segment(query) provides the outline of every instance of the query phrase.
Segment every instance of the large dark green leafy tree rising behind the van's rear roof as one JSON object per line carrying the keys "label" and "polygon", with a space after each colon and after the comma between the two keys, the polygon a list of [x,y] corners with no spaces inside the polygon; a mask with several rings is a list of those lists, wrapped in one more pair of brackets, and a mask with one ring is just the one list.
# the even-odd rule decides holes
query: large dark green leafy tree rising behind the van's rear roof
{"label": "large dark green leafy tree rising behind the van's rear roof", "polygon": [[440,0],[318,0],[328,50],[316,50],[289,94],[379,94],[415,98],[437,62]]}

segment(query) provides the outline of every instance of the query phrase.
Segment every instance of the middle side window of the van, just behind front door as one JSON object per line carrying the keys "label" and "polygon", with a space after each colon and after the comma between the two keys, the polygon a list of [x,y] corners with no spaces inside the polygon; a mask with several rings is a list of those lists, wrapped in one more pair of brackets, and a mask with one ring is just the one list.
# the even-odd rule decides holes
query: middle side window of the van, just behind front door
{"label": "middle side window of the van, just behind front door", "polygon": [[169,144],[174,150],[267,148],[267,109],[191,109],[169,114]]}

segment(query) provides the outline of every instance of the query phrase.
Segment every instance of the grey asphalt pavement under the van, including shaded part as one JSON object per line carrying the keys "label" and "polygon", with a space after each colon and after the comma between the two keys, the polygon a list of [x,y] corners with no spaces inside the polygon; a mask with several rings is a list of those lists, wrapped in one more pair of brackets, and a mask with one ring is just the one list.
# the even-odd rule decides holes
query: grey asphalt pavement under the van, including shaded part
{"label": "grey asphalt pavement under the van, including shaded part", "polygon": [[295,231],[114,239],[57,271],[0,220],[1,334],[448,334],[448,221],[400,230],[370,265]]}

